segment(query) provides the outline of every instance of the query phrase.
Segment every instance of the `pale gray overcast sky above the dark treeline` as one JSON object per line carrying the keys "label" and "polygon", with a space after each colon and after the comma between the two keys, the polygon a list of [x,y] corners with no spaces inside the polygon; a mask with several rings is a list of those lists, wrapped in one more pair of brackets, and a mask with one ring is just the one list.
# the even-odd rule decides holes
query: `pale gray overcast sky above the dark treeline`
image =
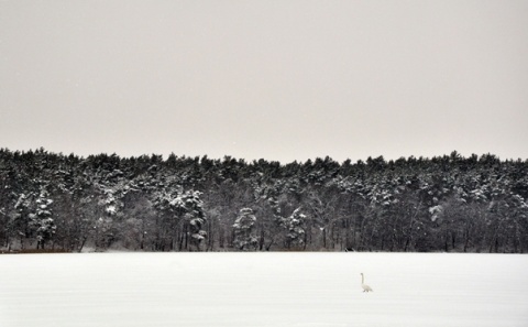
{"label": "pale gray overcast sky above the dark treeline", "polygon": [[528,1],[0,0],[0,148],[528,157]]}

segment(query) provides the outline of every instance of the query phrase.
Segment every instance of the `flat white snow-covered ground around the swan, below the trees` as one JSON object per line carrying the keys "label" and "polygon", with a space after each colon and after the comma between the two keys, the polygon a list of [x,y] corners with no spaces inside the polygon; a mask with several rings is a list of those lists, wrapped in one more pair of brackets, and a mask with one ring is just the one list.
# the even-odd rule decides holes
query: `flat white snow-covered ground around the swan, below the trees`
{"label": "flat white snow-covered ground around the swan, below the trees", "polygon": [[2,327],[528,326],[528,255],[19,254],[0,276]]}

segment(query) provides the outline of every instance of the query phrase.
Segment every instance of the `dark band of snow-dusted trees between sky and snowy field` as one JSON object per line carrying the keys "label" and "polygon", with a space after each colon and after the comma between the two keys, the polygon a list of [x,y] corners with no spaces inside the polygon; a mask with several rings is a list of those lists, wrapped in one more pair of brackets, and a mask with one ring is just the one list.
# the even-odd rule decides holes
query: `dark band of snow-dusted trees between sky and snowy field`
{"label": "dark band of snow-dusted trees between sky and snowy field", "polygon": [[0,149],[0,249],[528,250],[528,160],[342,163]]}

